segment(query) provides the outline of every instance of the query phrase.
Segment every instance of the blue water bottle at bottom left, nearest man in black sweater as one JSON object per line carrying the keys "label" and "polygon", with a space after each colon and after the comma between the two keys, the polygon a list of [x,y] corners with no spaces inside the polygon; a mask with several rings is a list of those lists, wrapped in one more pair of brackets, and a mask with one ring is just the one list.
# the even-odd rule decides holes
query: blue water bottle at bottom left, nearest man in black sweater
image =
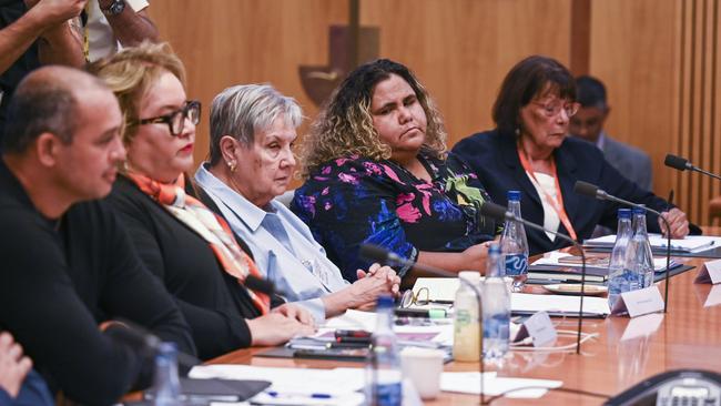
{"label": "blue water bottle at bottom left, nearest man in black sweater", "polygon": [[153,375],[153,405],[181,405],[180,379],[177,378],[177,347],[175,343],[161,343],[155,355]]}

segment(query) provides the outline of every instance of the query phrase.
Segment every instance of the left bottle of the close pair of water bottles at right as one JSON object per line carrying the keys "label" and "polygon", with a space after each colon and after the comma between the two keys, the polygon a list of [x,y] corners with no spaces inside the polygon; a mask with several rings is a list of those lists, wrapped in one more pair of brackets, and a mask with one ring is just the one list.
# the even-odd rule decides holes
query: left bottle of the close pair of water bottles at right
{"label": "left bottle of the close pair of water bottles at right", "polygon": [[608,267],[608,305],[611,308],[618,302],[621,293],[638,288],[638,277],[628,266],[627,252],[631,237],[631,211],[619,209],[616,243]]}

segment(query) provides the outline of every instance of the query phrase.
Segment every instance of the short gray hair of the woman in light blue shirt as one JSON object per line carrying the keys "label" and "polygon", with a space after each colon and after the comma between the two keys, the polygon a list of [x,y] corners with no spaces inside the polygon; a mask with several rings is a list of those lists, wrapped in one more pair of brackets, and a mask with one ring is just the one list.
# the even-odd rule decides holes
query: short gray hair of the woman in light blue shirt
{"label": "short gray hair of the woman in light blue shirt", "polygon": [[268,130],[278,118],[297,128],[303,121],[303,110],[295,99],[281,94],[272,85],[242,84],[223,90],[211,105],[211,165],[222,158],[224,135],[248,148],[255,141],[255,132]]}

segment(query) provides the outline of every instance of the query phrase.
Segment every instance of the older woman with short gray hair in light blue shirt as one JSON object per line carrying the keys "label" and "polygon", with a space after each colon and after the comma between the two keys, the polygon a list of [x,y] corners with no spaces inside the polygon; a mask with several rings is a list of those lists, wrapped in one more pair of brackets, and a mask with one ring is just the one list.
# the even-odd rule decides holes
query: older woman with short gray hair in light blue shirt
{"label": "older woman with short gray hair in light blue shirt", "polygon": [[292,302],[305,301],[316,319],[373,306],[398,291],[387,266],[357,270],[353,284],[293,212],[274,200],[295,170],[293,143],[303,121],[297,103],[267,84],[225,89],[211,108],[210,162],[195,173],[215,206],[243,237],[262,273]]}

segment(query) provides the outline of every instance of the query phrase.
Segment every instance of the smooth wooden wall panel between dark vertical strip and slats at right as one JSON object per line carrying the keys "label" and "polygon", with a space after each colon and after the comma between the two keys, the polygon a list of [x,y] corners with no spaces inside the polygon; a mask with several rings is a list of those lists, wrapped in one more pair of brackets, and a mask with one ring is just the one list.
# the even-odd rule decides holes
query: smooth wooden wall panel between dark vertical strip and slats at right
{"label": "smooth wooden wall panel between dark vertical strip and slats at right", "polygon": [[664,154],[673,150],[677,8],[673,1],[595,0],[590,74],[606,83],[606,130],[643,149],[653,162],[654,191],[667,195]]}

